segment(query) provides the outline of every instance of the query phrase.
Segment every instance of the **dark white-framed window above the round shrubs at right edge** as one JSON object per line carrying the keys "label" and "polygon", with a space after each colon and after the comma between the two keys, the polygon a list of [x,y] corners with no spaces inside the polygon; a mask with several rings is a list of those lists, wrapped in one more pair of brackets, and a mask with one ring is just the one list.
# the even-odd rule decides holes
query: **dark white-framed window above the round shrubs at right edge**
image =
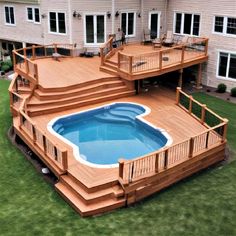
{"label": "dark white-framed window above the round shrubs at right edge", "polygon": [[236,54],[219,52],[218,76],[236,79]]}

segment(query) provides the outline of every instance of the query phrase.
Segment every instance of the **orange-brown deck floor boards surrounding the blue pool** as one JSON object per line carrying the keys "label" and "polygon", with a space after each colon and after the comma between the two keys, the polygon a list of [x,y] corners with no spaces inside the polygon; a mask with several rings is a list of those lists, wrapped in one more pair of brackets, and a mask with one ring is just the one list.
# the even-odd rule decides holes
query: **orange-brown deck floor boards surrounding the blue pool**
{"label": "orange-brown deck floor boards surrounding the blue pool", "polygon": [[49,131],[47,131],[47,124],[55,117],[87,110],[89,108],[108,104],[114,101],[135,102],[151,108],[151,113],[147,115],[145,119],[155,126],[165,129],[172,137],[173,143],[184,141],[187,138],[206,130],[206,128],[202,126],[197,120],[175,105],[174,91],[166,88],[155,87],[151,88],[148,92],[137,96],[116,99],[113,101],[66,110],[53,114],[32,117],[37,126],[46,132],[47,137],[57,143],[57,145],[67,148],[69,154],[69,172],[87,186],[99,186],[107,182],[116,181],[118,178],[118,168],[97,169],[77,162],[73,157],[72,148],[49,133]]}

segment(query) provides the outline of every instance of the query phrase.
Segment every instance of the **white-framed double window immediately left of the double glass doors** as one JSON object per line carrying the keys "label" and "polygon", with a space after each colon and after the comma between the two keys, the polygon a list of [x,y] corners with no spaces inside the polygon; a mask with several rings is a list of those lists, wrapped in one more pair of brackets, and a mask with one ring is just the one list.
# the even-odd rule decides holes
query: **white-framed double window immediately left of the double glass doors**
{"label": "white-framed double window immediately left of the double glass doors", "polygon": [[66,33],[65,13],[49,12],[49,27],[50,27],[50,32],[52,33],[65,34]]}

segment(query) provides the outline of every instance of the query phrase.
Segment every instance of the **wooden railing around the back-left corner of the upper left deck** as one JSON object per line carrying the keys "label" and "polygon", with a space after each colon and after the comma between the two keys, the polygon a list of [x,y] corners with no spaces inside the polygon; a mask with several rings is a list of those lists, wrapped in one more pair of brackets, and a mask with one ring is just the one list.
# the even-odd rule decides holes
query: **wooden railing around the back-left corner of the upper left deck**
{"label": "wooden railing around the back-left corner of the upper left deck", "polygon": [[14,70],[33,84],[38,84],[38,66],[35,59],[52,57],[59,53],[63,57],[73,56],[73,44],[51,44],[13,50]]}

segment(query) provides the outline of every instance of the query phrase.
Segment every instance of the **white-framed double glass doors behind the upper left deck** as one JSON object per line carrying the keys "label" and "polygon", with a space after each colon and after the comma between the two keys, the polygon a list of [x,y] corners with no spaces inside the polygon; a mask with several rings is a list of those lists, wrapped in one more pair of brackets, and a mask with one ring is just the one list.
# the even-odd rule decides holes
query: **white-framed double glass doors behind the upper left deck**
{"label": "white-framed double glass doors behind the upper left deck", "polygon": [[105,15],[85,16],[86,44],[101,44],[105,42]]}

